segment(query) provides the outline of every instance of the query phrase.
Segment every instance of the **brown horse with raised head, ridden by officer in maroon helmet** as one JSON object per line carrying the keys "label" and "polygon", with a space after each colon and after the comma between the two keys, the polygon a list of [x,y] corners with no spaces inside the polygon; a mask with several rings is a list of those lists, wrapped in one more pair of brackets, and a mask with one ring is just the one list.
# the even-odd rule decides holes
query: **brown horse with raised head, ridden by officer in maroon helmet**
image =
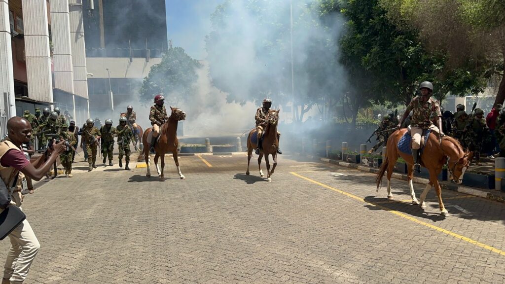
{"label": "brown horse with raised head, ridden by officer in maroon helmet", "polygon": [[[160,127],[160,134],[159,134],[159,140],[158,143],[155,145],[155,165],[156,165],[156,171],[158,171],[158,174],[160,175],[160,179],[162,181],[165,180],[165,175],[163,173],[163,169],[165,168],[165,153],[167,152],[172,152],[172,155],[174,156],[174,161],[175,161],[175,166],[177,167],[177,172],[179,173],[179,176],[181,179],[186,179],[184,175],[181,173],[181,169],[179,168],[179,160],[177,158],[177,147],[179,146],[179,140],[177,140],[177,124],[179,123],[180,120],[186,119],[186,113],[183,112],[180,109],[177,108],[172,108],[172,114],[168,118],[168,120],[163,123]],[[147,139],[147,136],[149,133],[153,130],[153,127],[149,127],[145,129],[144,135],[142,136],[142,141],[144,144],[144,159],[145,159],[145,164],[147,165],[147,173],[145,176],[150,177],[151,172],[149,170],[149,165],[150,165],[150,154],[149,154],[149,142],[150,139]],[[161,170],[160,167],[158,166],[158,159],[161,158]]]}

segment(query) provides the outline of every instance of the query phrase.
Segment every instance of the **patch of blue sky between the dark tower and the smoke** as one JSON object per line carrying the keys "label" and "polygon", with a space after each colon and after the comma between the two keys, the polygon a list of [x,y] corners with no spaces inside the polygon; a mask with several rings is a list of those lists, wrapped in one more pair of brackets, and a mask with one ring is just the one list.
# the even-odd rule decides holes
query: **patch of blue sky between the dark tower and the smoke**
{"label": "patch of blue sky between the dark tower and the smoke", "polygon": [[168,39],[193,59],[205,59],[210,18],[224,0],[166,0]]}

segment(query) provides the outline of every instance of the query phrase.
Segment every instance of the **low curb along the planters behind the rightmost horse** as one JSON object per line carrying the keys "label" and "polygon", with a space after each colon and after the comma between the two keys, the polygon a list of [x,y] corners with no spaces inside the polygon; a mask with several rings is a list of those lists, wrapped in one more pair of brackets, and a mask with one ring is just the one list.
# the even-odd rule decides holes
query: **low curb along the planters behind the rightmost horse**
{"label": "low curb along the planters behind the rightmost horse", "polygon": [[[298,153],[298,156],[303,157],[304,155],[301,155]],[[319,160],[322,162],[338,165],[341,167],[358,169],[361,171],[374,173],[374,174],[379,172],[378,168],[367,167],[367,166],[360,165],[360,164],[347,163],[347,162],[342,162],[342,161],[337,161],[337,160],[331,160],[328,158],[315,157],[312,155],[305,155],[305,156],[307,158],[312,159],[312,160]],[[408,180],[407,174],[393,172],[392,177],[394,177],[396,179]],[[414,176],[413,181],[416,183],[427,184],[429,182],[429,179],[424,178],[424,177]],[[493,201],[500,202],[500,203],[505,203],[505,192],[499,192],[496,190],[484,191],[484,190],[480,190],[480,189],[477,189],[474,187],[458,185],[455,183],[451,183],[449,181],[440,181],[440,187],[443,190],[455,191],[455,192],[459,192],[459,193],[463,193],[463,194],[468,194],[468,195],[473,195],[473,196],[485,198],[488,200],[493,200]]]}

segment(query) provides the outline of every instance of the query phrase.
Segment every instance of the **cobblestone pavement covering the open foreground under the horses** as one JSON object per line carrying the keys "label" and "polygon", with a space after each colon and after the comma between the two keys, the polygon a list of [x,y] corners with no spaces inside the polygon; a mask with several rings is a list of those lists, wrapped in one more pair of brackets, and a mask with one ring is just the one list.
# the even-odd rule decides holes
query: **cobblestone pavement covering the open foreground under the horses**
{"label": "cobblestone pavement covering the open foreground under the horses", "polygon": [[23,206],[41,243],[26,283],[505,281],[503,204],[443,192],[444,219],[433,192],[425,212],[403,202],[406,181],[390,202],[357,170],[284,155],[268,183],[256,160],[245,176],[244,156],[202,158],[212,167],[180,159],[186,180],[167,157],[164,182],[116,160],[39,183]]}

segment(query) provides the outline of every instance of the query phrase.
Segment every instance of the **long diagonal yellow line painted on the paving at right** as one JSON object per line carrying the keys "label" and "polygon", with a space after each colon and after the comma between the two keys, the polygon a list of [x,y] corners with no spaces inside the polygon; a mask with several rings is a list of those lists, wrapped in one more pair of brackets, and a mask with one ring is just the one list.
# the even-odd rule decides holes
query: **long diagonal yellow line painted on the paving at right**
{"label": "long diagonal yellow line painted on the paving at right", "polygon": [[491,246],[488,246],[488,245],[486,245],[486,244],[479,243],[479,242],[474,241],[474,240],[472,240],[472,239],[470,239],[470,238],[467,238],[466,236],[463,236],[463,235],[457,234],[457,233],[455,233],[455,232],[452,232],[452,231],[446,230],[446,229],[444,229],[444,228],[437,227],[437,226],[435,226],[435,225],[432,225],[432,224],[429,224],[429,223],[423,222],[423,221],[418,220],[418,219],[416,219],[416,218],[414,218],[414,217],[411,217],[411,216],[409,216],[409,215],[407,215],[407,214],[403,214],[403,213],[400,213],[400,212],[398,212],[398,211],[390,210],[389,208],[386,208],[386,207],[384,207],[384,206],[380,206],[380,205],[378,205],[378,204],[376,204],[376,203],[373,203],[373,202],[366,201],[365,199],[363,199],[363,198],[361,198],[361,197],[357,197],[357,196],[352,195],[352,194],[350,194],[350,193],[346,193],[346,192],[344,192],[344,191],[337,190],[337,188],[331,187],[331,186],[326,185],[326,184],[324,184],[324,183],[321,183],[321,182],[319,182],[319,181],[315,181],[314,179],[310,179],[310,178],[308,178],[308,177],[305,177],[305,176],[299,175],[299,174],[297,174],[297,173],[295,173],[295,172],[291,172],[291,174],[292,174],[292,175],[294,175],[294,176],[297,176],[297,177],[299,177],[299,178],[305,179],[305,180],[307,180],[307,181],[310,181],[310,182],[312,182],[312,183],[315,183],[315,184],[317,184],[317,185],[320,185],[320,186],[322,186],[322,187],[324,187],[324,188],[328,188],[329,190],[332,190],[332,191],[337,192],[337,193],[339,193],[339,194],[342,194],[342,195],[345,195],[345,196],[347,196],[347,197],[350,197],[350,198],[352,198],[352,199],[355,199],[355,200],[358,200],[358,201],[361,201],[361,202],[364,202],[364,203],[371,204],[371,205],[376,206],[376,207],[378,207],[378,208],[380,208],[380,209],[382,209],[382,210],[384,210],[384,211],[387,211],[387,212],[389,212],[389,213],[392,213],[392,214],[394,214],[394,215],[396,215],[396,216],[399,216],[399,217],[401,217],[401,218],[407,219],[407,220],[412,221],[412,222],[414,222],[414,223],[417,223],[417,224],[420,224],[420,225],[426,226],[426,227],[428,227],[428,228],[432,228],[432,229],[434,229],[434,230],[437,230],[437,231],[443,232],[443,233],[445,233],[445,234],[448,234],[448,235],[450,235],[450,236],[453,236],[453,237],[454,237],[454,238],[456,238],[456,239],[460,239],[460,240],[462,240],[462,241],[465,241],[465,242],[468,242],[468,243],[470,243],[470,244],[476,245],[477,247],[481,247],[481,248],[483,248],[483,249],[486,249],[486,250],[492,251],[493,253],[497,253],[497,254],[500,254],[500,255],[502,255],[502,256],[505,256],[505,251],[502,251],[502,250],[496,249],[496,248],[491,247]]}

